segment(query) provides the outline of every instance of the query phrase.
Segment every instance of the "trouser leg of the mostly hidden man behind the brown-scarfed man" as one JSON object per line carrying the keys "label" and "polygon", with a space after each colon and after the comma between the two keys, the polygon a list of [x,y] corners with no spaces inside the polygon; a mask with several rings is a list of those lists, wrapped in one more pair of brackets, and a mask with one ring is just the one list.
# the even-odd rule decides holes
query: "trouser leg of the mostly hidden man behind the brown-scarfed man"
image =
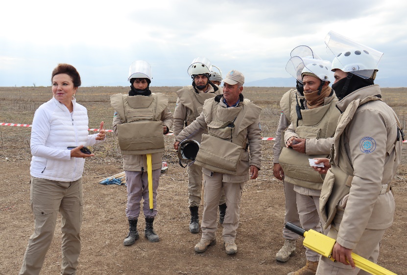
{"label": "trouser leg of the mostly hidden man behind the brown-scarfed man", "polygon": [[[297,209],[297,192],[294,191],[294,184],[286,183],[283,179],[284,195],[286,197],[286,213],[284,215],[284,225],[291,223],[298,227],[301,226],[300,217]],[[298,234],[293,231],[283,228],[283,237],[287,240],[298,239]]]}

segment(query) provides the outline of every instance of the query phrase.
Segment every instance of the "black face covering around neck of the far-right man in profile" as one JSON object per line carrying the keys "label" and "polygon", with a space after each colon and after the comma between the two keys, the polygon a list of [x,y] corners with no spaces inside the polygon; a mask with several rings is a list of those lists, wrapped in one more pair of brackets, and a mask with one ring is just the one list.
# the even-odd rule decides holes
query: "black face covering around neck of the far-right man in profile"
{"label": "black face covering around neck of the far-right man in profile", "polygon": [[348,72],[348,76],[342,78],[341,80],[337,81],[336,83],[332,84],[332,89],[334,89],[336,97],[341,100],[348,94],[355,92],[363,87],[367,87],[373,85],[374,80],[371,78],[364,79],[360,76]]}

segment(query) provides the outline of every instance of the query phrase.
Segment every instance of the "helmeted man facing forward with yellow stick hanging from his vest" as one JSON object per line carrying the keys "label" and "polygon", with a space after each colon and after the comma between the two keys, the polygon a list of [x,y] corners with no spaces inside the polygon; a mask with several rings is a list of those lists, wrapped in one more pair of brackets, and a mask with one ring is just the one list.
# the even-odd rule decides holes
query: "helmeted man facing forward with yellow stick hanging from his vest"
{"label": "helmeted man facing forward with yellow stick hanging from his vest", "polygon": [[[139,239],[137,222],[140,215],[142,198],[145,217],[144,236],[150,242],[160,240],[153,230],[154,217],[157,215],[157,188],[160,178],[164,152],[164,138],[172,126],[172,114],[168,110],[168,96],[152,93],[150,65],[137,60],[130,65],[130,91],[128,94],[114,94],[110,103],[115,109],[113,132],[119,139],[123,157],[123,169],[126,174],[127,207],[126,217],[129,232],[123,245],[132,245]],[[132,143],[134,140],[134,143]],[[156,144],[155,144],[156,143]],[[147,154],[151,154],[153,179],[153,209],[149,206],[147,175]]]}

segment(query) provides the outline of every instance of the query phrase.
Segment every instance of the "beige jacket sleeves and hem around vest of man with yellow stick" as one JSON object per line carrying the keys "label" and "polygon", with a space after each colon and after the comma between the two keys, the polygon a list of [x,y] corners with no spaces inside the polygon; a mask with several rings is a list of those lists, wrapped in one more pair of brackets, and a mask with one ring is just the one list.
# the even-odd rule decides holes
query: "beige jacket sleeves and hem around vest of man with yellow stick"
{"label": "beige jacket sleeves and hem around vest of man with yellow stick", "polygon": [[[160,120],[163,121],[163,125],[166,125],[168,129],[172,127],[173,116],[168,107],[161,113]],[[115,115],[113,117],[113,133],[117,136],[117,125],[121,124],[120,116]],[[146,155],[122,155],[123,157],[123,170],[125,171],[146,171],[147,170],[147,157]],[[151,154],[152,170],[160,169],[163,165],[163,153]]]}

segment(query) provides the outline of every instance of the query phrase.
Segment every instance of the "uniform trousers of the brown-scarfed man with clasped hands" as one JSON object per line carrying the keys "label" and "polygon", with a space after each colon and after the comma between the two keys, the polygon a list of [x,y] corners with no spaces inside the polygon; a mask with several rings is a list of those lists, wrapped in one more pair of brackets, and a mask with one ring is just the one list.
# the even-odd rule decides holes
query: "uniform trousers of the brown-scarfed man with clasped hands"
{"label": "uniform trousers of the brown-scarfed man with clasped hands", "polygon": [[[313,229],[323,233],[319,212],[319,196],[303,195],[297,192],[297,208],[303,229],[307,231]],[[309,248],[305,248],[305,256],[307,260],[312,262],[319,260],[319,254]]]}

